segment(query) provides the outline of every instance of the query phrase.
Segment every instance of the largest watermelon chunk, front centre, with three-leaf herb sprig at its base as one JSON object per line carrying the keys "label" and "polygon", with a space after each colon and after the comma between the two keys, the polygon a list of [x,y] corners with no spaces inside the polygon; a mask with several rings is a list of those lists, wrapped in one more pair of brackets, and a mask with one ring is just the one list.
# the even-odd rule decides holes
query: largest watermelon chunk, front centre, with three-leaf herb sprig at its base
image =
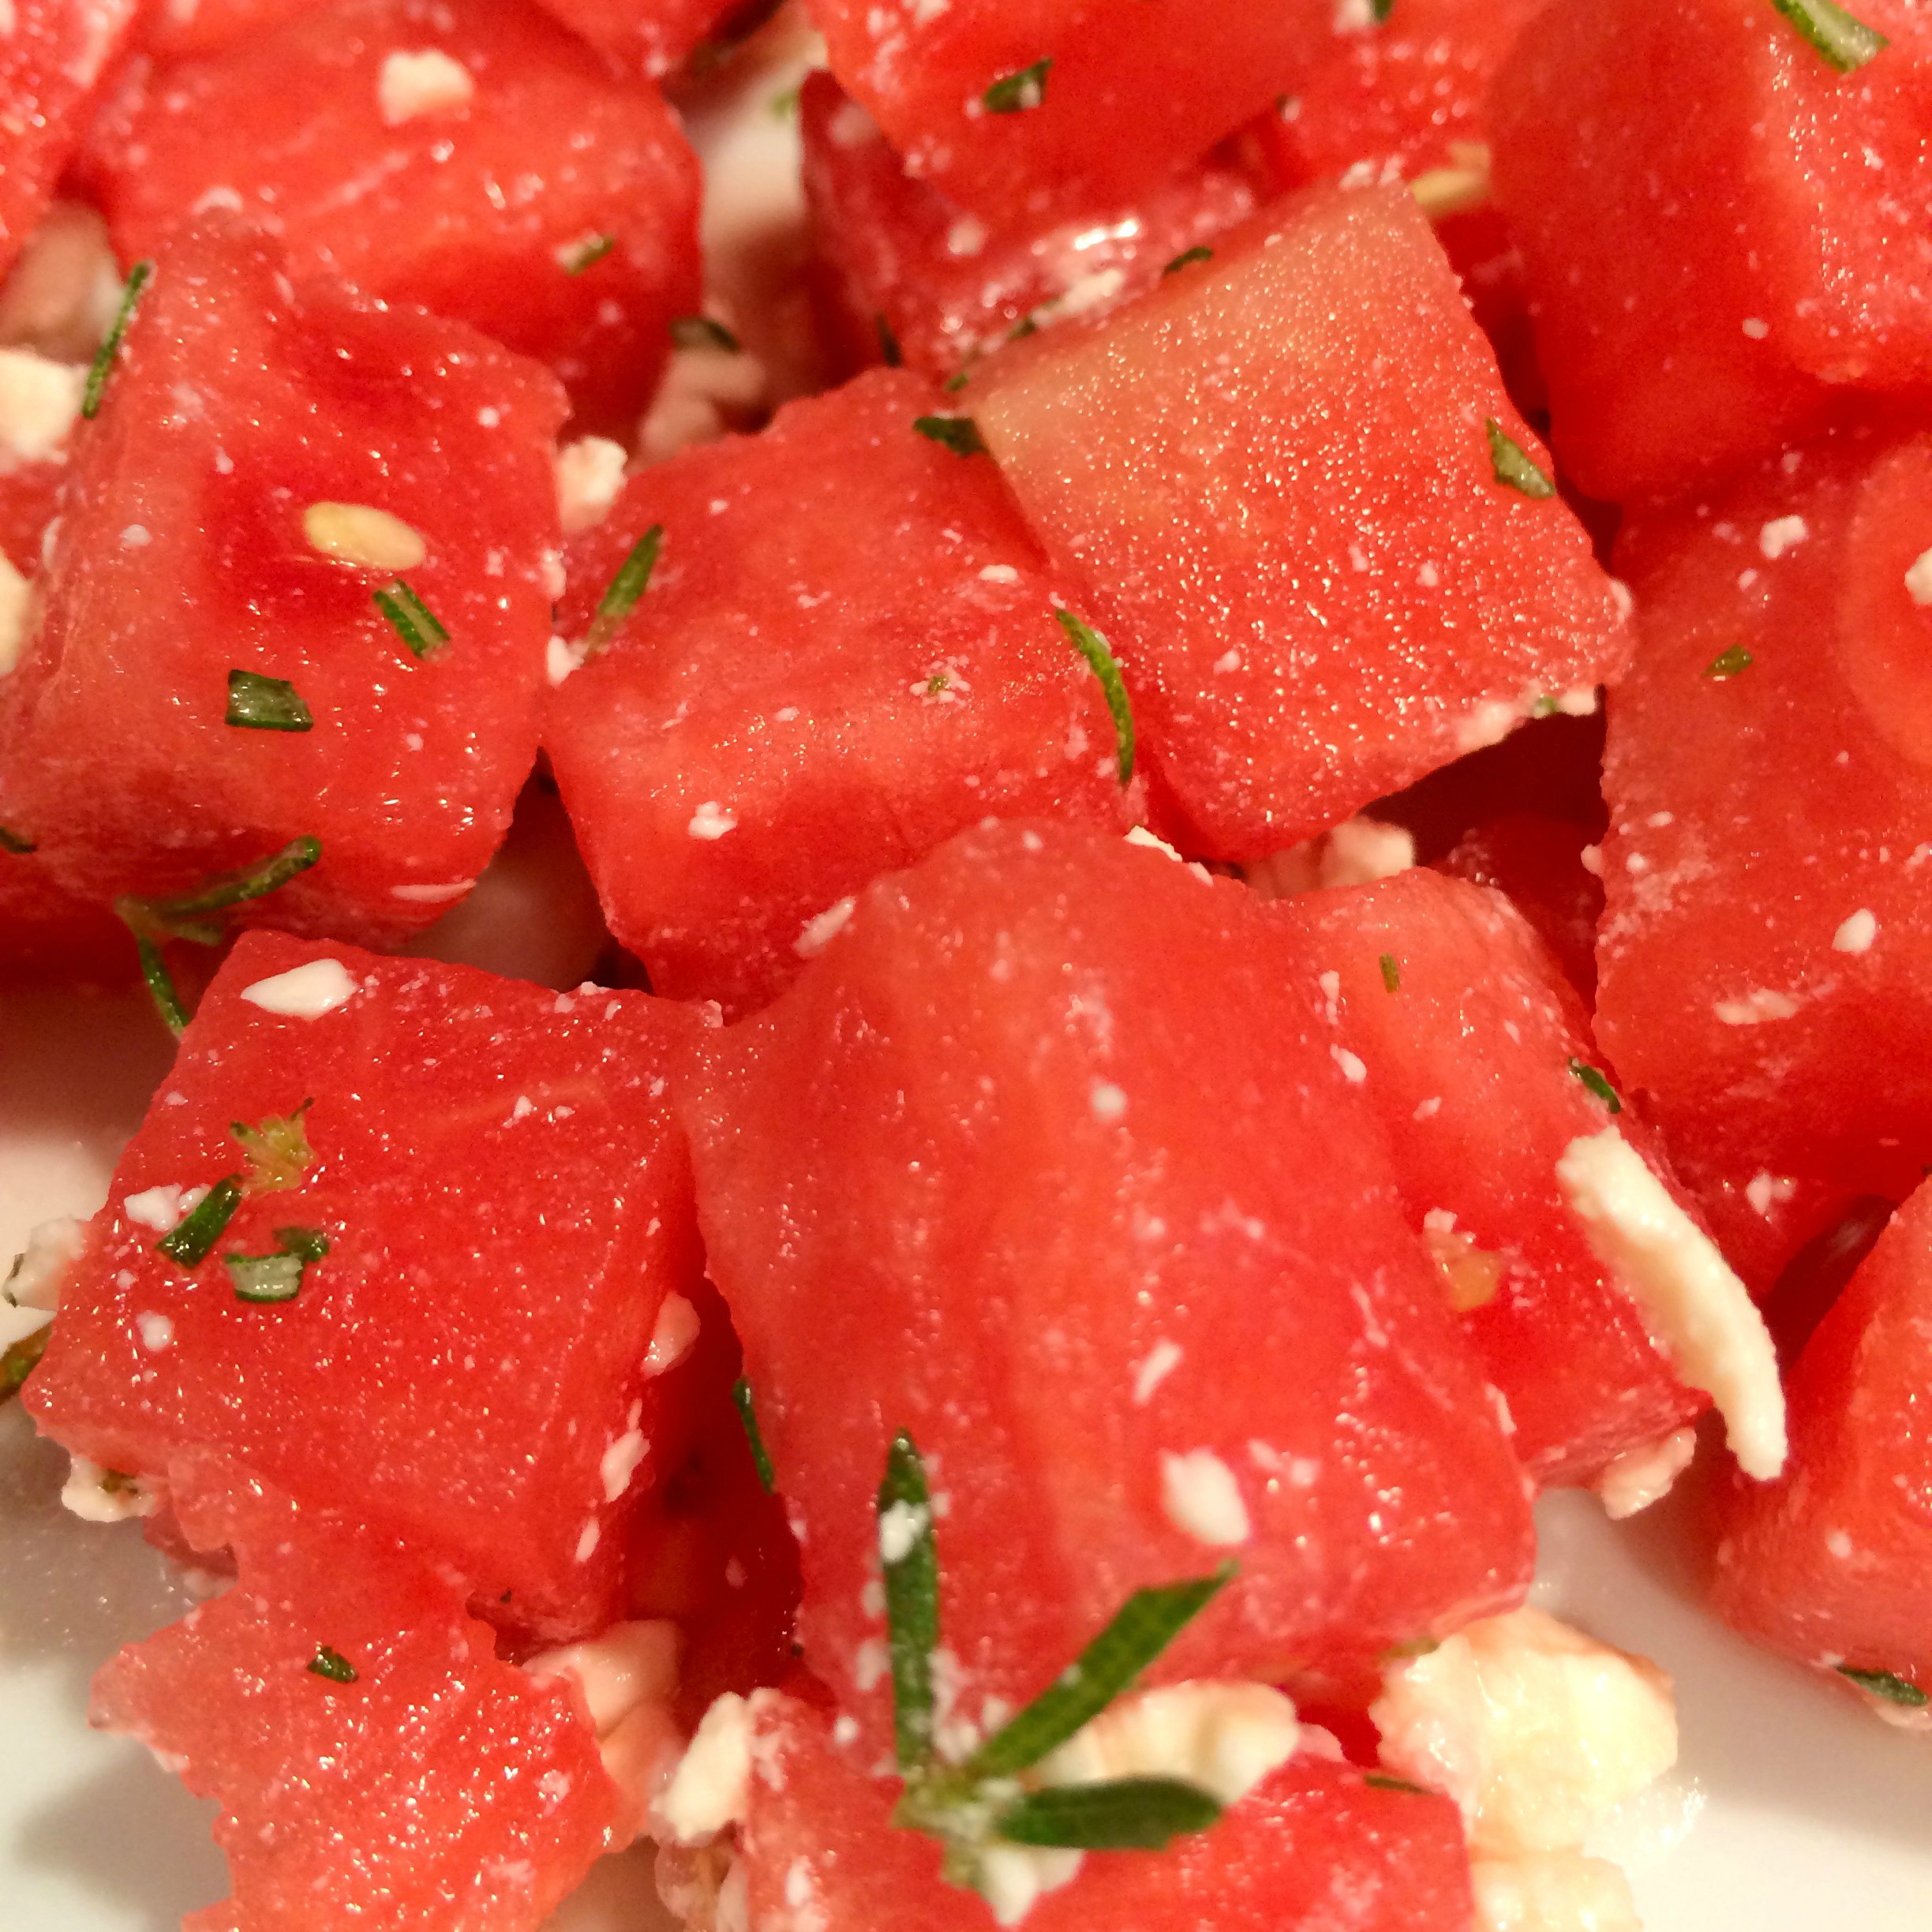
{"label": "largest watermelon chunk, front centre, with three-leaf herb sprig at its base", "polygon": [[879,881],[711,1039],[709,1265],[806,1660],[867,1748],[895,1430],[937,1493],[958,1723],[1229,1555],[1159,1673],[1350,1669],[1520,1596],[1520,1474],[1329,1045],[1244,887],[1045,823]]}

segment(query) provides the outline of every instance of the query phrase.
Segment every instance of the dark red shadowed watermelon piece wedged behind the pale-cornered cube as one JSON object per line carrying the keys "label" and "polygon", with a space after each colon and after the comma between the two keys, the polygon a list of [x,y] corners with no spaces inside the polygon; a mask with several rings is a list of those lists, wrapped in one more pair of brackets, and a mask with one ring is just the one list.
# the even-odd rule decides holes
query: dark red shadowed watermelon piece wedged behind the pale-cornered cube
{"label": "dark red shadowed watermelon piece wedged behind the pale-cornered cube", "polygon": [[806,203],[842,354],[951,377],[1014,334],[1097,321],[1254,213],[1248,172],[1204,160],[1136,201],[991,232],[906,172],[829,73],[800,91]]}

